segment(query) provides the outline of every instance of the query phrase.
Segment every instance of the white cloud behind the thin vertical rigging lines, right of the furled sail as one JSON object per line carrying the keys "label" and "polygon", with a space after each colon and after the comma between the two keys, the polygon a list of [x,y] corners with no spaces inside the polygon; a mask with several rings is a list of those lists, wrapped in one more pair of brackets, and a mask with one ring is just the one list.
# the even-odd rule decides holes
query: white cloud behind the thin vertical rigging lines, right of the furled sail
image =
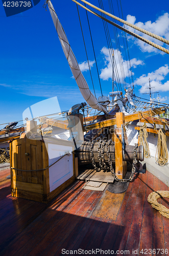
{"label": "white cloud behind the thin vertical rigging lines, right of the furled sail", "polygon": [[[109,78],[112,78],[112,62],[110,59],[109,49],[107,49],[106,47],[103,47],[101,52],[104,54],[106,68],[101,70],[100,78],[102,78],[103,80],[108,80]],[[122,81],[123,75],[121,73],[119,56],[122,57],[122,54],[120,53],[120,51],[118,51],[116,49],[114,51],[114,59],[115,59],[114,63],[116,63],[116,68],[118,70],[119,79],[120,79],[120,81]],[[123,67],[124,67],[125,77],[129,76],[128,67],[130,67],[130,63],[131,63],[131,67],[133,67],[133,68],[136,68],[138,65],[143,65],[143,61],[136,59],[136,58],[131,59],[130,63],[129,63],[128,60],[124,60],[122,57],[122,63],[123,63]],[[116,74],[116,68],[114,68],[115,74]]]}

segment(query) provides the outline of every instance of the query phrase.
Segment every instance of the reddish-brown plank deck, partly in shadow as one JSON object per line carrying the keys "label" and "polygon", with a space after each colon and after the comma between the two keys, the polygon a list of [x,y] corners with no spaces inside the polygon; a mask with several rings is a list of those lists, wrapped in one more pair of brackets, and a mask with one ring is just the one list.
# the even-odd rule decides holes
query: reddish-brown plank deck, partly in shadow
{"label": "reddish-brown plank deck, partly in shadow", "polygon": [[[7,175],[9,169],[0,172],[0,255],[58,256],[78,249],[97,255],[169,254],[169,220],[147,202],[152,191],[168,187],[149,172],[130,183],[119,200],[113,194],[112,203],[106,191],[84,190],[84,181],[77,180],[48,205],[12,198]],[[160,201],[168,207],[168,199]]]}

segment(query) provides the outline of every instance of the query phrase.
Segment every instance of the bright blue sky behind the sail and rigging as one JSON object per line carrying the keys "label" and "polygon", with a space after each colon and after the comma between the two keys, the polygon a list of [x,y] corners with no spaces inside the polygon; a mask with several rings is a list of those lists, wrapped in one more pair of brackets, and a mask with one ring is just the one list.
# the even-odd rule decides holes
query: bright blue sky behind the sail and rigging
{"label": "bright blue sky behind the sail and rigging", "polygon": [[[79,1],[80,2],[80,1]],[[91,1],[99,7],[98,0]],[[154,1],[121,0],[125,20],[136,24],[146,30],[158,34],[169,40],[168,1],[162,0],[160,4]],[[62,51],[51,14],[43,8],[43,1],[32,9],[6,17],[3,5],[0,6],[1,20],[1,62],[0,62],[0,88],[1,88],[1,121],[12,122],[22,119],[22,113],[29,106],[44,99],[57,96],[61,111],[68,110],[72,105],[81,103],[83,97],[79,91],[66,58]],[[83,75],[92,91],[89,71],[85,71],[87,60],[77,6],[71,0],[56,1],[52,4],[66,32],[70,46],[80,63]],[[119,4],[119,2],[118,2]],[[105,10],[109,12],[108,0],[103,0]],[[119,4],[120,5],[120,4]],[[118,14],[117,4],[114,1],[114,13]],[[96,96],[101,96],[99,79],[96,73],[91,39],[86,20],[85,11],[79,7],[80,17],[85,35],[88,58],[91,61],[91,72],[94,81]],[[98,63],[101,86],[104,95],[112,91],[112,67],[108,56],[108,46],[104,34],[102,20],[89,15],[90,28],[96,60]],[[122,17],[122,16],[121,16]],[[112,26],[109,26],[112,46],[116,57],[116,45]],[[120,45],[122,33],[118,31]],[[136,32],[141,35],[140,32]],[[146,37],[144,35],[144,37]],[[154,91],[159,91],[162,101],[169,102],[169,63],[168,54],[163,54],[151,46],[144,45],[131,36],[127,36],[135,94],[147,97],[142,93],[148,92],[149,77]],[[153,38],[152,41],[155,42]],[[169,49],[168,45],[160,45]],[[123,50],[123,46],[121,48]],[[126,67],[125,52],[122,51],[124,67]],[[117,60],[118,62],[118,60]],[[126,72],[127,76],[127,72]],[[128,78],[127,82],[128,82]],[[157,94],[154,94],[154,98]],[[55,106],[51,106],[55,110]],[[52,111],[52,110],[51,110]],[[0,129],[3,128],[2,125]]]}

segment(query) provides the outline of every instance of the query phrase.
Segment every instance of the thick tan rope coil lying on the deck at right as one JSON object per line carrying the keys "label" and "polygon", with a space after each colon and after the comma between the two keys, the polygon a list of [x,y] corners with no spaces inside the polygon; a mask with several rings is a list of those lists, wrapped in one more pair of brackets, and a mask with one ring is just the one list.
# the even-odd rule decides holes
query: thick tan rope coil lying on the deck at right
{"label": "thick tan rope coil lying on the deck at right", "polygon": [[157,199],[162,197],[169,198],[169,191],[161,190],[152,192],[148,196],[148,202],[152,205],[154,209],[158,210],[162,216],[169,219],[169,209],[157,202]]}

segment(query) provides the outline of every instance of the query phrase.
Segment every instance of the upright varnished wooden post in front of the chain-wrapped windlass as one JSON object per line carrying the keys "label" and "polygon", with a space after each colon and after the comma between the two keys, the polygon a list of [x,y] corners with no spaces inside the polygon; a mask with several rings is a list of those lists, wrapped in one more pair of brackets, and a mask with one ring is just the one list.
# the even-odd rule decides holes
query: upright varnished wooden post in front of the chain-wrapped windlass
{"label": "upright varnished wooden post in front of the chain-wrapped windlass", "polygon": [[[118,179],[123,179],[127,172],[127,162],[123,160],[122,124],[123,124],[123,127],[125,127],[125,115],[122,112],[117,112],[116,113],[117,126],[114,133],[114,146],[115,146],[115,175],[117,176]],[[125,135],[125,131],[124,131],[124,135]]]}

